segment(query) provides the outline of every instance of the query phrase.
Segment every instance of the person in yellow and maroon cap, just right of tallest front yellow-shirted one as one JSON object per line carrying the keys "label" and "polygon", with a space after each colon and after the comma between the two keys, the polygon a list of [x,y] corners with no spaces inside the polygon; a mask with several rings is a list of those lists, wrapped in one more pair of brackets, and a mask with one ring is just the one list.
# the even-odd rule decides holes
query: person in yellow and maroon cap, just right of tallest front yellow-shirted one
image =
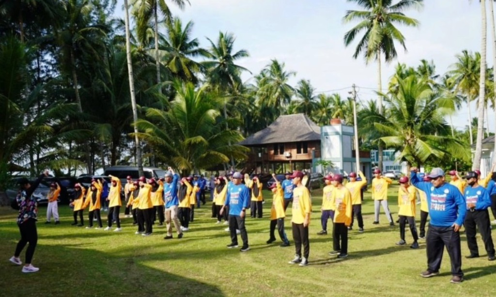
{"label": "person in yellow and maroon cap, just right of tallest front yellow-shirted one", "polygon": [[332,230],[332,245],[334,250],[329,255],[338,258],[348,257],[348,226],[351,225],[353,205],[350,190],[343,185],[343,176],[336,174],[332,177],[331,203],[334,204],[334,226]]}

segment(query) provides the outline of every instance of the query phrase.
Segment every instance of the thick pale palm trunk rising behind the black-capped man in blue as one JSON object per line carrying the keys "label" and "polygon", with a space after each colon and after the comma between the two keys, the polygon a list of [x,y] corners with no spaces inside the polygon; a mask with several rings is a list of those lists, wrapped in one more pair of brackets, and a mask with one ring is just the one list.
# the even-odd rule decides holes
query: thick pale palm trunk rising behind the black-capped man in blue
{"label": "thick pale palm trunk rising behind the black-capped man in blue", "polygon": [[[492,1],[492,0],[490,0]],[[482,134],[484,130],[484,95],[486,94],[486,43],[487,19],[486,0],[481,0],[482,38],[481,38],[481,81],[479,88],[479,105],[477,106],[477,138],[475,142],[474,162],[472,170],[480,169],[482,157]]]}

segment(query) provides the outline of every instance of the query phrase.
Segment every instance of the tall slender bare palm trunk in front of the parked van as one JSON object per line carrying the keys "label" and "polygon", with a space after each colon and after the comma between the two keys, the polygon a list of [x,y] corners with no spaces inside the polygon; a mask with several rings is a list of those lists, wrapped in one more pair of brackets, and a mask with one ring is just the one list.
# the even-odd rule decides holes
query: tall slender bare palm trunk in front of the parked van
{"label": "tall slender bare palm trunk in front of the parked van", "polygon": [[134,78],[132,74],[132,59],[131,59],[131,37],[129,33],[129,6],[127,0],[124,0],[125,11],[125,49],[127,55],[127,72],[129,73],[129,92],[131,93],[132,119],[134,120],[134,145],[136,147],[136,164],[138,166],[139,176],[143,176],[143,161],[141,160],[141,148],[138,138],[138,108],[136,106],[136,96],[134,95]]}

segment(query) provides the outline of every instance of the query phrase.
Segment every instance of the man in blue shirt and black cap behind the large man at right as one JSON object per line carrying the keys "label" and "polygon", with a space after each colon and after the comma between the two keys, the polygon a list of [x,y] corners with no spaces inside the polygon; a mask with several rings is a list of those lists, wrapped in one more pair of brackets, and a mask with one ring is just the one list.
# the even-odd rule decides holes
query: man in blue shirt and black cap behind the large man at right
{"label": "man in blue shirt and black cap behind the large man at right", "polygon": [[468,249],[470,255],[466,258],[478,258],[479,247],[477,246],[477,229],[481,233],[484,246],[488,252],[489,261],[496,260],[495,246],[491,237],[491,222],[489,220],[488,208],[491,206],[489,192],[477,182],[479,175],[469,172],[465,177],[467,188],[465,188],[465,201],[467,203],[467,216],[465,217],[465,234],[467,235]]}

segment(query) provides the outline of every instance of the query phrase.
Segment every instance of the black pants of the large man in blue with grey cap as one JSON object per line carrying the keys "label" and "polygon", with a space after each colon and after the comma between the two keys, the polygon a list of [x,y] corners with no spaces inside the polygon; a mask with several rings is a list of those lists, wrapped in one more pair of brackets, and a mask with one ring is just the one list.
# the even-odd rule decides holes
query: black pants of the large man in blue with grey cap
{"label": "black pants of the large man in blue with grey cap", "polygon": [[453,227],[435,227],[430,225],[427,231],[427,269],[438,272],[441,267],[444,246],[451,260],[451,274],[459,277],[462,272],[462,253],[460,233],[454,232]]}

